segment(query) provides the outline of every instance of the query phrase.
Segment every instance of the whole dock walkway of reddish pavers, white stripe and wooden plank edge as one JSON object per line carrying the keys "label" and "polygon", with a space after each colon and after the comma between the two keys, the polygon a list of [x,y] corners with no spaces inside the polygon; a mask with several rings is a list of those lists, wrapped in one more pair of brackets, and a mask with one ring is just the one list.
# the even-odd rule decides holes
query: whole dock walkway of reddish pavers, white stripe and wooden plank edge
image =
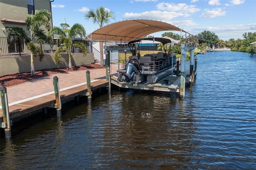
{"label": "whole dock walkway of reddish pavers, white stripe and wooden plank edge", "polygon": [[[115,74],[117,64],[111,64],[111,74]],[[91,90],[98,91],[107,87],[106,69],[91,69]],[[48,75],[20,85],[6,87],[8,95],[8,106],[10,119],[19,120],[35,111],[47,107],[54,107],[56,103],[53,87],[53,77],[59,78],[60,99],[62,103],[78,96],[86,95],[86,70],[71,71],[69,73],[58,73]],[[96,93],[96,92],[95,92]],[[0,103],[0,123],[3,122],[2,105]]]}

